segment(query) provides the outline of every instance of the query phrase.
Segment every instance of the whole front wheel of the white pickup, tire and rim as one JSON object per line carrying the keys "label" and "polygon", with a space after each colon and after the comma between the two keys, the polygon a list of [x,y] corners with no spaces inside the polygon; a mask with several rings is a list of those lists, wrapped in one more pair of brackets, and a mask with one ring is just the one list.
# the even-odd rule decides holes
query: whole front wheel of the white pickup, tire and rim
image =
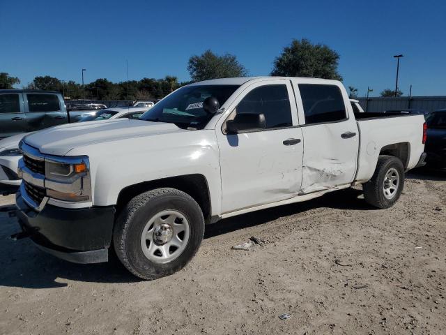
{"label": "whole front wheel of the white pickup, tire and rim", "polygon": [[175,188],[137,195],[116,219],[114,248],[135,276],[156,279],[182,269],[197,253],[204,234],[199,204]]}

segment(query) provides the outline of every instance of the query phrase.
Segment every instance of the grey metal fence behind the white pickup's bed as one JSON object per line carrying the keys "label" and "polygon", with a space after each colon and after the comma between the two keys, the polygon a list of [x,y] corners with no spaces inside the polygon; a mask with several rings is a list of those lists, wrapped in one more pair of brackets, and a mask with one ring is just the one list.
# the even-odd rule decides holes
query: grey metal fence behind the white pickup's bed
{"label": "grey metal fence behind the white pickup's bed", "polygon": [[404,110],[413,108],[433,112],[446,108],[446,96],[413,96],[409,98],[357,98],[367,112],[384,112],[385,110]]}

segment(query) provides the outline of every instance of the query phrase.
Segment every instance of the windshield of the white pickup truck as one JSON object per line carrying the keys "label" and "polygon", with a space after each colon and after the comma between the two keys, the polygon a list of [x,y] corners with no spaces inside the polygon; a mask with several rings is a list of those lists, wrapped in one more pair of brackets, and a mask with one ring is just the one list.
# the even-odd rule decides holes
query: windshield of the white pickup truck
{"label": "windshield of the white pickup truck", "polygon": [[213,114],[208,114],[203,110],[204,99],[213,96],[217,98],[221,106],[238,87],[238,85],[182,87],[156,103],[139,119],[176,124],[179,128],[203,129],[213,117]]}

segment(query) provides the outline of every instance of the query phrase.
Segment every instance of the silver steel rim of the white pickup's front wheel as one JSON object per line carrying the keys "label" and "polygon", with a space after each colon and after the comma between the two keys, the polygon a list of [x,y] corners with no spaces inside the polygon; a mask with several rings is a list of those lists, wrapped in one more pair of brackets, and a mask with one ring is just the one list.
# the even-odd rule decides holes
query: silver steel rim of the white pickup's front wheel
{"label": "silver steel rim of the white pickup's front wheel", "polygon": [[142,230],[142,252],[152,262],[171,262],[183,253],[189,235],[189,222],[182,213],[175,210],[160,211]]}

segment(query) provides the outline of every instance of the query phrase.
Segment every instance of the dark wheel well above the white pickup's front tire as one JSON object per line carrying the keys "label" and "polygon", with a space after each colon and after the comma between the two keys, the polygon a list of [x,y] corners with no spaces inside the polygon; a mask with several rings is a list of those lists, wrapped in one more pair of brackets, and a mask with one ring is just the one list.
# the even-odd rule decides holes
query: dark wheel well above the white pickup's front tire
{"label": "dark wheel well above the white pickup's front tire", "polygon": [[199,204],[206,223],[210,221],[210,195],[206,178],[203,174],[186,174],[184,176],[162,178],[153,181],[144,181],[123,188],[116,202],[116,215],[136,195],[155,188],[171,187],[187,193]]}

